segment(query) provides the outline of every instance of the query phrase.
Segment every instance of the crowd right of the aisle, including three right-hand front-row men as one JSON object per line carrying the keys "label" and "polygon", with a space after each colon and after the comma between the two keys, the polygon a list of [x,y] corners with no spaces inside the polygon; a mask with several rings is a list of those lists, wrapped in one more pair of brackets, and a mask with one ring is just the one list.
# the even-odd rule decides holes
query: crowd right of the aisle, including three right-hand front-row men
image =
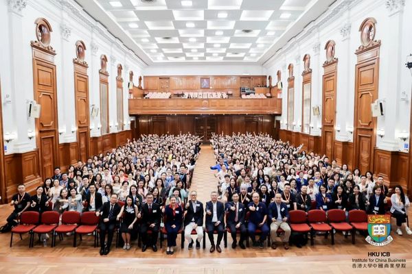
{"label": "crowd right of the aisle, including three right-hand front-row men", "polygon": [[[288,212],[291,210],[341,209],[364,210],[367,214],[390,212],[396,219],[396,233],[411,235],[407,226],[409,199],[402,186],[393,189],[384,184],[382,176],[371,171],[361,174],[350,171],[347,164],[339,166],[335,160],[315,153],[307,154],[288,142],[274,140],[268,134],[214,135],[211,145],[216,164],[211,166],[218,179],[220,201],[227,203],[227,211],[249,214],[247,232],[253,247],[263,248],[270,234],[271,247],[276,249],[278,229],[284,248],[290,242]],[[239,203],[240,201],[240,203]],[[233,206],[240,204],[242,208]],[[238,215],[239,216],[239,215]],[[236,247],[236,229],[240,228],[240,245],[244,240],[244,219],[227,219]],[[236,228],[236,229],[235,229]],[[260,239],[255,232],[260,230]],[[293,240],[295,242],[295,240]],[[301,246],[303,242],[297,242]]]}

